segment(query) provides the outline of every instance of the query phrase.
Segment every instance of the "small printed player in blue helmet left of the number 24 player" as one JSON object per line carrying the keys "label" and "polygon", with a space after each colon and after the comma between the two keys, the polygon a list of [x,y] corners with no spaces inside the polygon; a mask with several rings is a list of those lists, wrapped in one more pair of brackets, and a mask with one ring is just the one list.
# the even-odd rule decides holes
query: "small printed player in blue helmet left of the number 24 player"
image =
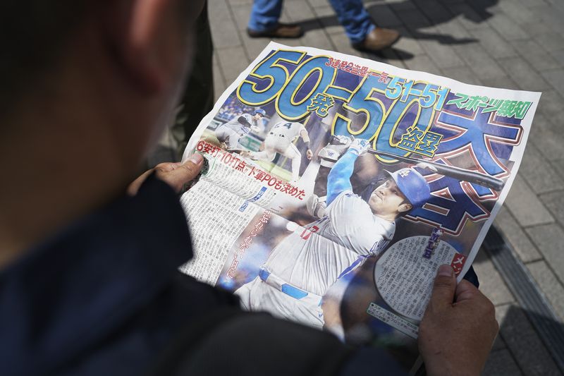
{"label": "small printed player in blue helmet left of the number 24 player", "polygon": [[261,108],[255,109],[252,114],[241,114],[237,119],[217,127],[215,136],[219,142],[224,144],[222,145],[224,149],[228,151],[243,150],[243,145],[239,143],[239,140],[251,131],[259,132],[261,130],[259,121],[264,116],[266,116],[266,111]]}

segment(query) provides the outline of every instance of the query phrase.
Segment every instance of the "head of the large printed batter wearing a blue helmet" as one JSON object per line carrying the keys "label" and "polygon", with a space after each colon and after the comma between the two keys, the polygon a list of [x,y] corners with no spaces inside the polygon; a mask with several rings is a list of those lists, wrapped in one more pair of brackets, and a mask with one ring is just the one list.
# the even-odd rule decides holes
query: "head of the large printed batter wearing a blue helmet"
{"label": "head of the large printed batter wearing a blue helmet", "polygon": [[372,191],[368,200],[374,214],[393,220],[414,207],[422,207],[429,199],[429,184],[419,172],[414,169],[385,172],[388,178]]}

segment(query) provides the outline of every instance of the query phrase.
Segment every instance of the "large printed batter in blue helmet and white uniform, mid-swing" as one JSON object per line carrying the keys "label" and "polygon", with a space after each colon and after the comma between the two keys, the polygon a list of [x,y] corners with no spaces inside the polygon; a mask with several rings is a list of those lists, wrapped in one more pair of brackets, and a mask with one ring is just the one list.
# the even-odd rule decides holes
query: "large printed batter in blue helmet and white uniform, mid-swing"
{"label": "large printed batter in blue helmet and white uniform, mid-swing", "polygon": [[321,329],[321,299],[343,275],[380,255],[396,231],[396,219],[429,199],[425,178],[415,169],[385,171],[371,192],[353,193],[350,178],[369,142],[350,142],[327,178],[326,208],[319,220],[299,227],[270,253],[259,275],[235,291],[246,310]]}

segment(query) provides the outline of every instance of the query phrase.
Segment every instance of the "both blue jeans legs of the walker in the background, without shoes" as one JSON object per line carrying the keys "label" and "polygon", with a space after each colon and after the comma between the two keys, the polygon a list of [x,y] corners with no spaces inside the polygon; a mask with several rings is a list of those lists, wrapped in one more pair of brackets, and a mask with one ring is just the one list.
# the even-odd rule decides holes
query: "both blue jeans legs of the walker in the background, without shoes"
{"label": "both blue jeans legs of the walker in the background, without shoes", "polygon": [[[276,26],[282,13],[283,0],[255,0],[252,4],[249,29],[266,31]],[[362,42],[376,26],[362,4],[362,0],[329,0],[339,23],[345,28],[350,42]]]}

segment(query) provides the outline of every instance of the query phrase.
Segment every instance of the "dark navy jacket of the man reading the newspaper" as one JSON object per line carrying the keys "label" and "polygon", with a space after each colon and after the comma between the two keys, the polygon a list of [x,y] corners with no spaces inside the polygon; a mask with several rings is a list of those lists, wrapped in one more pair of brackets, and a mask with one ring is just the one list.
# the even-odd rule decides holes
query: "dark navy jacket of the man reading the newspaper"
{"label": "dark navy jacket of the man reading the newspaper", "polygon": [[392,375],[383,353],[243,313],[178,272],[192,257],[178,196],[149,178],[0,274],[2,375]]}

